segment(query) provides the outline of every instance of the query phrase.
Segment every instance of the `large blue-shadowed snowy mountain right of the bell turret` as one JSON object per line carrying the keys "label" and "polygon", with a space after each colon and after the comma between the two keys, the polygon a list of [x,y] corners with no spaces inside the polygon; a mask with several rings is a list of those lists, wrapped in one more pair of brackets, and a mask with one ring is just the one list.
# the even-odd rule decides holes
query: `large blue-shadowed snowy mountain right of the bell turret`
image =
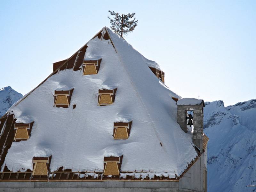
{"label": "large blue-shadowed snowy mountain right of the bell turret", "polygon": [[256,191],[256,99],[224,107],[205,102],[208,142],[208,191]]}

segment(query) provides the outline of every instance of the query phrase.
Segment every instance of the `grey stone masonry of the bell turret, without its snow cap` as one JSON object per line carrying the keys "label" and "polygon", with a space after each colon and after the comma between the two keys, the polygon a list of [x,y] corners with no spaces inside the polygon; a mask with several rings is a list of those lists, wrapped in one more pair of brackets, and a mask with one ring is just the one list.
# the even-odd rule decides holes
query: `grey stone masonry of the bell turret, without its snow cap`
{"label": "grey stone masonry of the bell turret, without its snow cap", "polygon": [[177,105],[177,122],[184,132],[187,130],[187,112],[193,111],[193,142],[203,152],[204,103],[197,105]]}

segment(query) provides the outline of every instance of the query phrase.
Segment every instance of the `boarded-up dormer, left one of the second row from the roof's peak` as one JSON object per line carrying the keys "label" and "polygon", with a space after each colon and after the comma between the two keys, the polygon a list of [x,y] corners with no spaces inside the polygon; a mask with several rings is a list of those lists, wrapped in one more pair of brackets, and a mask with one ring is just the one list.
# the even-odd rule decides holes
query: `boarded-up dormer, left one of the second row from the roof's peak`
{"label": "boarded-up dormer, left one of the second row from the roof's peak", "polygon": [[68,108],[70,105],[71,96],[74,89],[68,91],[55,91],[54,92],[54,107]]}

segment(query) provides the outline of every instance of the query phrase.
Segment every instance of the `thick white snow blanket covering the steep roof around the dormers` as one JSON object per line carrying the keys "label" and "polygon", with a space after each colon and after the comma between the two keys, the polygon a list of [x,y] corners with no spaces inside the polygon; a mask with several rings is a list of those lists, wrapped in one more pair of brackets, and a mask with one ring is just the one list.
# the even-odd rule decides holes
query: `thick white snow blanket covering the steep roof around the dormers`
{"label": "thick white snow blanket covering the steep roof around the dormers", "polygon": [[[121,171],[174,178],[196,158],[191,133],[177,123],[172,97],[180,96],[148,68],[155,62],[109,28],[101,33],[110,39],[92,38],[84,55],[102,59],[97,75],[83,76],[83,71],[72,68],[53,72],[9,109],[16,122],[34,124],[29,140],[12,143],[4,162],[8,169],[32,170],[33,157],[52,155],[51,170],[103,170],[104,156],[123,155]],[[98,90],[113,87],[118,88],[114,103],[97,106]],[[76,104],[75,109],[54,107],[52,93],[63,88],[74,88],[70,105]],[[113,123],[120,121],[132,121],[127,140],[113,140]]]}

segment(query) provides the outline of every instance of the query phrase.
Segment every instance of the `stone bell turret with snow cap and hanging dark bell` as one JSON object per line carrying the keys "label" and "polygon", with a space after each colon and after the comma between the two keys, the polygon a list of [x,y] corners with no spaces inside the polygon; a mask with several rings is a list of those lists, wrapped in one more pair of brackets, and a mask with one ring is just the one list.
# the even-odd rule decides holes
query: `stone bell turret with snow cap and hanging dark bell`
{"label": "stone bell turret with snow cap and hanging dark bell", "polygon": [[[177,123],[184,132],[188,132],[188,125],[194,126],[192,133],[193,142],[200,152],[203,152],[203,134],[204,134],[204,100],[194,98],[182,98],[177,105]],[[193,115],[188,111],[193,111]]]}

